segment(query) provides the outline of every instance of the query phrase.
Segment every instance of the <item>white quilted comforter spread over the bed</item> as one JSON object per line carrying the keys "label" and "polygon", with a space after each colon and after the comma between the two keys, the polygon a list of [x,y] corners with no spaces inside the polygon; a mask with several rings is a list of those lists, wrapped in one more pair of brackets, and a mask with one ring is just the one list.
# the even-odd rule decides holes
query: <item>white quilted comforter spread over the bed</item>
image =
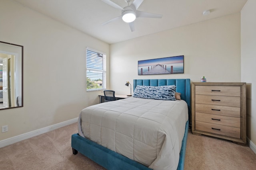
{"label": "white quilted comforter spread over the bed", "polygon": [[154,170],[176,170],[187,120],[183,100],[131,97],[83,109],[78,132]]}

